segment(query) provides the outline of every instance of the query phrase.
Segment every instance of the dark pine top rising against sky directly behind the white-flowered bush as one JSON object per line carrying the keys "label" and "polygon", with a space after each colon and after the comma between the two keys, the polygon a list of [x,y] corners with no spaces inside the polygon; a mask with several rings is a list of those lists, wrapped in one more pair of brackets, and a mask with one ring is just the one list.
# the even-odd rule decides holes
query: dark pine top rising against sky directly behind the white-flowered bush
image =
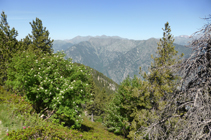
{"label": "dark pine top rising against sky directly behind the white-flowered bush", "polygon": [[[32,41],[32,47],[34,51],[42,51],[43,53],[53,53],[53,40],[49,38],[49,31],[46,30],[46,27],[43,27],[42,21],[39,18],[36,18],[36,21],[30,22],[32,27],[32,35],[29,35],[29,38]],[[25,39],[25,42],[28,42],[28,38]]]}

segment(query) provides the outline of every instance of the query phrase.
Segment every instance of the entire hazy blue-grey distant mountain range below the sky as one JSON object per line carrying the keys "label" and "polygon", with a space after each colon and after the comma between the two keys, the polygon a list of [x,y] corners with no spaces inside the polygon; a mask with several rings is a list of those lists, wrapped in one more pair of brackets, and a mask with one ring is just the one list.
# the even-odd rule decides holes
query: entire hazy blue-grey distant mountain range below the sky
{"label": "entire hazy blue-grey distant mountain range below the sky", "polygon": [[[188,57],[191,50],[184,46],[188,41],[188,36],[175,37],[178,54],[184,53]],[[140,66],[142,70],[148,70],[158,42],[155,38],[129,40],[118,36],[77,36],[70,40],[55,40],[53,49],[55,52],[64,50],[66,58],[94,68],[120,83],[127,75],[139,75]]]}

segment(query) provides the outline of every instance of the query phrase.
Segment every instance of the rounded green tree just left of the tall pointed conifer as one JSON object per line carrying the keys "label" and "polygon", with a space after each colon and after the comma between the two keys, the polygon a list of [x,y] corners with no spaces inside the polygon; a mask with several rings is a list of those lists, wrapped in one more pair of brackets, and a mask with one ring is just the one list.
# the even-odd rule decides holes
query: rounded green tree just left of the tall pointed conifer
{"label": "rounded green tree just left of the tall pointed conifer", "polygon": [[[130,131],[145,123],[146,117],[150,117],[146,114],[149,114],[148,109],[151,108],[147,86],[147,82],[136,76],[133,79],[127,77],[121,83],[107,109],[105,125],[108,130],[127,136]],[[140,114],[142,117],[145,114],[145,118],[139,120]]]}

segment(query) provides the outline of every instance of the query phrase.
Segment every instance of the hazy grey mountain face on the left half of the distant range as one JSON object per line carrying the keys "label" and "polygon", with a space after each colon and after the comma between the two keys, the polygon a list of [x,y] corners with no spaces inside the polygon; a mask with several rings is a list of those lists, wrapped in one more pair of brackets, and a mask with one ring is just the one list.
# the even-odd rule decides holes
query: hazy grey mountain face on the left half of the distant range
{"label": "hazy grey mountain face on the left half of the distant range", "polygon": [[71,57],[73,62],[95,68],[103,72],[105,67],[115,58],[127,53],[141,41],[131,41],[114,38],[91,38],[70,46],[66,51],[66,58]]}

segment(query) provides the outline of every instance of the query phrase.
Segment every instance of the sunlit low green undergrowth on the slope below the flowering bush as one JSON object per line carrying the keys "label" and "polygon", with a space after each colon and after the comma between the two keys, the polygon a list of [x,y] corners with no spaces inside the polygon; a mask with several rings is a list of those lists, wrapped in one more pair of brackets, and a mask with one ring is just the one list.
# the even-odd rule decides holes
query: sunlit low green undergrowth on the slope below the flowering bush
{"label": "sunlit low green undergrowth on the slope below the flowering bush", "polygon": [[[91,122],[84,116],[80,129],[70,129],[53,119],[44,120],[39,117],[32,105],[23,97],[7,92],[0,87],[0,120],[2,140],[122,140],[100,122]],[[0,127],[1,127],[0,126]]]}

